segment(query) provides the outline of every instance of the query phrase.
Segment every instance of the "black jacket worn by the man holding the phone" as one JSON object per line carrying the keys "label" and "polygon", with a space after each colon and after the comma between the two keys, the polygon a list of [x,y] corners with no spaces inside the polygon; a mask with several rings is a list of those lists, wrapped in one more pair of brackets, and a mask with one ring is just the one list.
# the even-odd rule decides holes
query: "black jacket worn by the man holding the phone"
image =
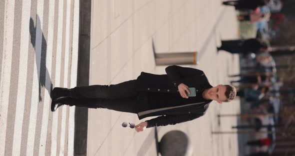
{"label": "black jacket worn by the man holding the phone", "polygon": [[[136,90],[147,96],[146,100],[140,103],[146,102],[148,105],[139,109],[142,111],[137,113],[138,118],[160,115],[147,120],[147,127],[195,119],[206,112],[211,102],[201,96],[205,88],[212,87],[203,71],[177,65],[168,66],[165,71],[167,74],[162,75],[141,72],[135,82]],[[188,99],[182,98],[178,92],[180,83],[195,87],[197,95]]]}

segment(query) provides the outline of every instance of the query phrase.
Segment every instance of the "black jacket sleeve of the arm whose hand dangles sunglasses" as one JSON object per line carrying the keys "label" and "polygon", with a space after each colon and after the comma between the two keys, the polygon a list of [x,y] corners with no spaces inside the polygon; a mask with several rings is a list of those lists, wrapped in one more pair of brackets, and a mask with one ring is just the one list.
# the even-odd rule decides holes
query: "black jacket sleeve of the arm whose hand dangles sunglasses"
{"label": "black jacket sleeve of the arm whose hand dangles sunglasses", "polygon": [[147,122],[147,128],[153,126],[165,126],[168,124],[176,124],[185,121],[193,120],[201,115],[193,113],[193,114],[184,114],[184,115],[162,115],[149,120]]}

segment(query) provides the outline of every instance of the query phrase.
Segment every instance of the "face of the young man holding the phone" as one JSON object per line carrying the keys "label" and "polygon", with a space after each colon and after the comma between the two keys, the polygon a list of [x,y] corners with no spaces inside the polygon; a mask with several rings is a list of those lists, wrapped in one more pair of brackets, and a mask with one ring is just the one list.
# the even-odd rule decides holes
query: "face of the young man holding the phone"
{"label": "face of the young man holding the phone", "polygon": [[204,97],[206,99],[216,100],[218,103],[226,100],[225,96],[226,87],[222,84],[209,88],[205,93]]}

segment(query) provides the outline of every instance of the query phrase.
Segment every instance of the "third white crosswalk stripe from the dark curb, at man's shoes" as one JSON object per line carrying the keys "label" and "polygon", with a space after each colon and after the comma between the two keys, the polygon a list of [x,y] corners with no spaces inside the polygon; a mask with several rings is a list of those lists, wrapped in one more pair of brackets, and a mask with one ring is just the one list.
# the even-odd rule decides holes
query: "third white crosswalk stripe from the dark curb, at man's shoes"
{"label": "third white crosswalk stripe from the dark curb, at man's shoes", "polygon": [[[63,0],[58,1],[58,27],[57,27],[57,46],[55,64],[55,86],[60,85],[60,63],[61,63],[61,43],[62,43],[62,20],[63,20]],[[56,135],[57,135],[58,112],[53,112],[51,130],[51,155],[56,155]]]}

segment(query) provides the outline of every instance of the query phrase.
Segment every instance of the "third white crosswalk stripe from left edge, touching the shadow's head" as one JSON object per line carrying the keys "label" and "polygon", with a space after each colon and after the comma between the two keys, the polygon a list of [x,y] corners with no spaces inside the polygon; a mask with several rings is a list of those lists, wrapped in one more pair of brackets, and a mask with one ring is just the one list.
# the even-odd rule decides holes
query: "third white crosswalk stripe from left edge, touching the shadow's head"
{"label": "third white crosswalk stripe from left edge, touching the shadow's head", "polygon": [[43,0],[37,2],[37,16],[36,16],[36,39],[35,39],[35,63],[33,67],[33,83],[30,105],[30,116],[28,124],[28,134],[26,143],[26,155],[33,155],[34,139],[35,139],[35,126],[37,117],[37,107],[39,103],[39,78],[40,75],[40,60],[41,60],[41,47],[42,47],[42,27],[43,27]]}

